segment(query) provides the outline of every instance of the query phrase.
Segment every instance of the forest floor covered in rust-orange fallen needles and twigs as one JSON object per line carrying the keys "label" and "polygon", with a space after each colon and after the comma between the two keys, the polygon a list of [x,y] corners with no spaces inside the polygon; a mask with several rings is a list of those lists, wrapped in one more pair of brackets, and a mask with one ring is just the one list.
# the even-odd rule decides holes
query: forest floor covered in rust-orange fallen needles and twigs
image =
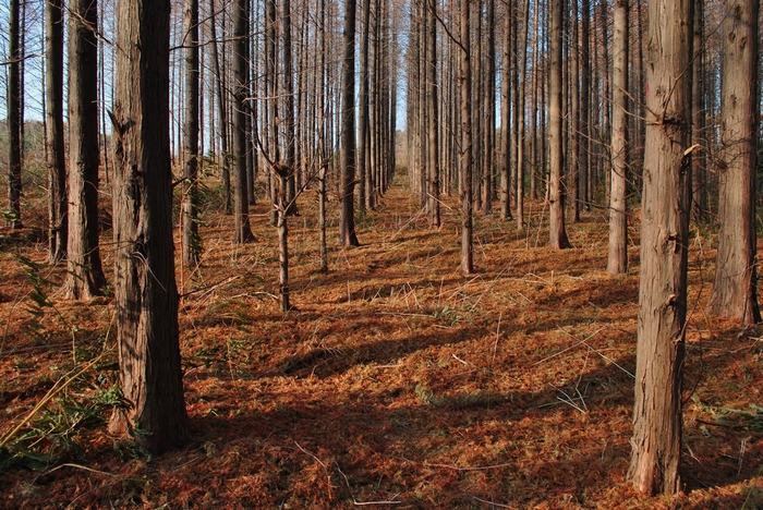
{"label": "forest floor covered in rust-orange fallen needles and twigs", "polygon": [[547,247],[542,203],[522,232],[477,216],[464,277],[455,199],[433,231],[397,185],[360,218],[362,246],[330,243],[320,272],[308,192],[284,314],[269,207],[252,208],[257,242],[234,245],[213,202],[202,266],[177,274],[193,440],[158,458],[105,426],[113,300],[63,300],[40,236],[0,231],[0,506],[763,508],[763,342],[703,312],[711,229],[693,228],[690,252],[685,491],[646,498],[627,481],[638,221],[616,277],[604,209],[568,223],[567,251]]}

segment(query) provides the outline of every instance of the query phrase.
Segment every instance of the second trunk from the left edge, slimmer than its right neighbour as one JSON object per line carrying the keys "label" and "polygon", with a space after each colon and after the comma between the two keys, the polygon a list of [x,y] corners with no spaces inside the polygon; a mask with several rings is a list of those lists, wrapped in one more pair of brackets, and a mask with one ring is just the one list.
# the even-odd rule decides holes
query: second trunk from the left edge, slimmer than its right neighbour
{"label": "second trunk from the left edge, slimmer than its right neighbour", "polygon": [[46,155],[48,165],[48,262],[66,258],[66,161],[63,131],[63,0],[46,2]]}

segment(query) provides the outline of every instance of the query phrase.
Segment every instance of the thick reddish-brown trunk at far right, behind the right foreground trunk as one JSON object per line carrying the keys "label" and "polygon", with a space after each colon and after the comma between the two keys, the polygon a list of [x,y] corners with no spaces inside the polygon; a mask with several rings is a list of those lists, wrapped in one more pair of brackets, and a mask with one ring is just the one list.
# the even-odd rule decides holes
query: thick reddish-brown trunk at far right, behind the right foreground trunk
{"label": "thick reddish-brown trunk at far right, behind the right foreground trunk", "polygon": [[710,311],[761,320],[755,292],[759,0],[727,0],[720,85],[718,253]]}

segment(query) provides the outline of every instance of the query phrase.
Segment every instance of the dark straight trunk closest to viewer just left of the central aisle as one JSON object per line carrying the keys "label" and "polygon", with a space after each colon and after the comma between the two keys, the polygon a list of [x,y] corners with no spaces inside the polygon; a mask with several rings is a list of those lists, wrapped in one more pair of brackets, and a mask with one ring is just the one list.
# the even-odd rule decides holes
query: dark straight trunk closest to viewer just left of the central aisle
{"label": "dark straight trunk closest to viewer just left of the central aisle", "polygon": [[355,0],[344,0],[344,60],[342,62],[342,166],[339,238],[359,246],[355,234]]}

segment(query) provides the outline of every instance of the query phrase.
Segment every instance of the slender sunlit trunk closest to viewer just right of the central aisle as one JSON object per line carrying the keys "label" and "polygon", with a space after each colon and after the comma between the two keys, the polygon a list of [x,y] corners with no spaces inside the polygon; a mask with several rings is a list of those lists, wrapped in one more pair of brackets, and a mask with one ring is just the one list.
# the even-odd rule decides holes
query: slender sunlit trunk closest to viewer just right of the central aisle
{"label": "slender sunlit trunk closest to viewer just right of the central aisle", "polygon": [[459,96],[461,108],[461,147],[459,148],[459,170],[461,173],[461,272],[474,272],[473,260],[473,217],[472,217],[472,68],[470,56],[471,15],[470,1],[460,1],[459,26],[461,44],[459,52]]}

